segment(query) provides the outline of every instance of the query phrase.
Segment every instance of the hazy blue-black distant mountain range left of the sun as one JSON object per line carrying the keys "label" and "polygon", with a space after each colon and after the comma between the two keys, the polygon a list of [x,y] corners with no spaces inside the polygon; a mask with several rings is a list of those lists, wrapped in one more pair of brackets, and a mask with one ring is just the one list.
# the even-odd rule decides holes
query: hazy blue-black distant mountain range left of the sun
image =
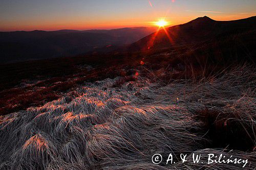
{"label": "hazy blue-black distant mountain range left of the sun", "polygon": [[74,56],[105,46],[123,46],[155,32],[137,27],[115,30],[0,32],[0,62]]}

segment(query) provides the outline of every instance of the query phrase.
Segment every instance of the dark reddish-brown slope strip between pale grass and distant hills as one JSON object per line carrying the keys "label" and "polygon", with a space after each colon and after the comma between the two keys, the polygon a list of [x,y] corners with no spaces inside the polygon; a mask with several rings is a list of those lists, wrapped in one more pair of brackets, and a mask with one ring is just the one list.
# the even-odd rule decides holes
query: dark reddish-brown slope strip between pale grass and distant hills
{"label": "dark reddish-brown slope strip between pale grass and distant hills", "polygon": [[[156,74],[176,70],[176,74],[170,72],[163,77],[166,83],[173,79],[216,74],[230,63],[247,61],[254,64],[254,38],[251,37],[253,32],[145,53],[78,56],[1,65],[0,115],[50,102],[59,98],[61,92],[84,81],[130,76],[132,72],[127,69],[140,69],[141,61],[143,70],[158,72]],[[88,65],[94,69],[86,69]],[[29,85],[20,86],[20,83]]]}

